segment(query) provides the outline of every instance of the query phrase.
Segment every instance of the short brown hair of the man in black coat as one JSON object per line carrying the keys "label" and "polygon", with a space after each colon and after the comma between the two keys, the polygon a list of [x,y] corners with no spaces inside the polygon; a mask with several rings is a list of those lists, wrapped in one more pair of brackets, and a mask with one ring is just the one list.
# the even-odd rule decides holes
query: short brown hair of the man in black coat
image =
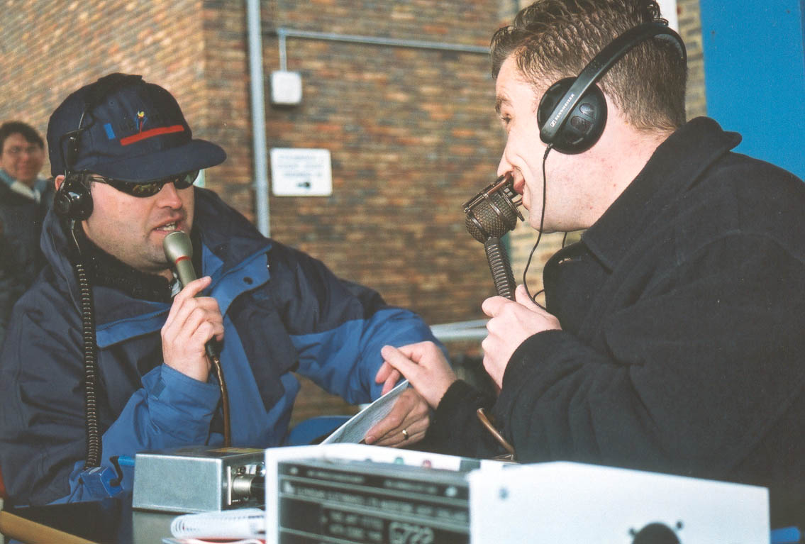
{"label": "short brown hair of the man in black coat", "polygon": [[[662,20],[654,0],[538,0],[492,37],[492,76],[515,56],[533,84],[576,76],[617,35]],[[598,84],[638,130],[674,130],[685,122],[687,67],[672,43],[647,39]],[[535,104],[535,109],[536,109]]]}

